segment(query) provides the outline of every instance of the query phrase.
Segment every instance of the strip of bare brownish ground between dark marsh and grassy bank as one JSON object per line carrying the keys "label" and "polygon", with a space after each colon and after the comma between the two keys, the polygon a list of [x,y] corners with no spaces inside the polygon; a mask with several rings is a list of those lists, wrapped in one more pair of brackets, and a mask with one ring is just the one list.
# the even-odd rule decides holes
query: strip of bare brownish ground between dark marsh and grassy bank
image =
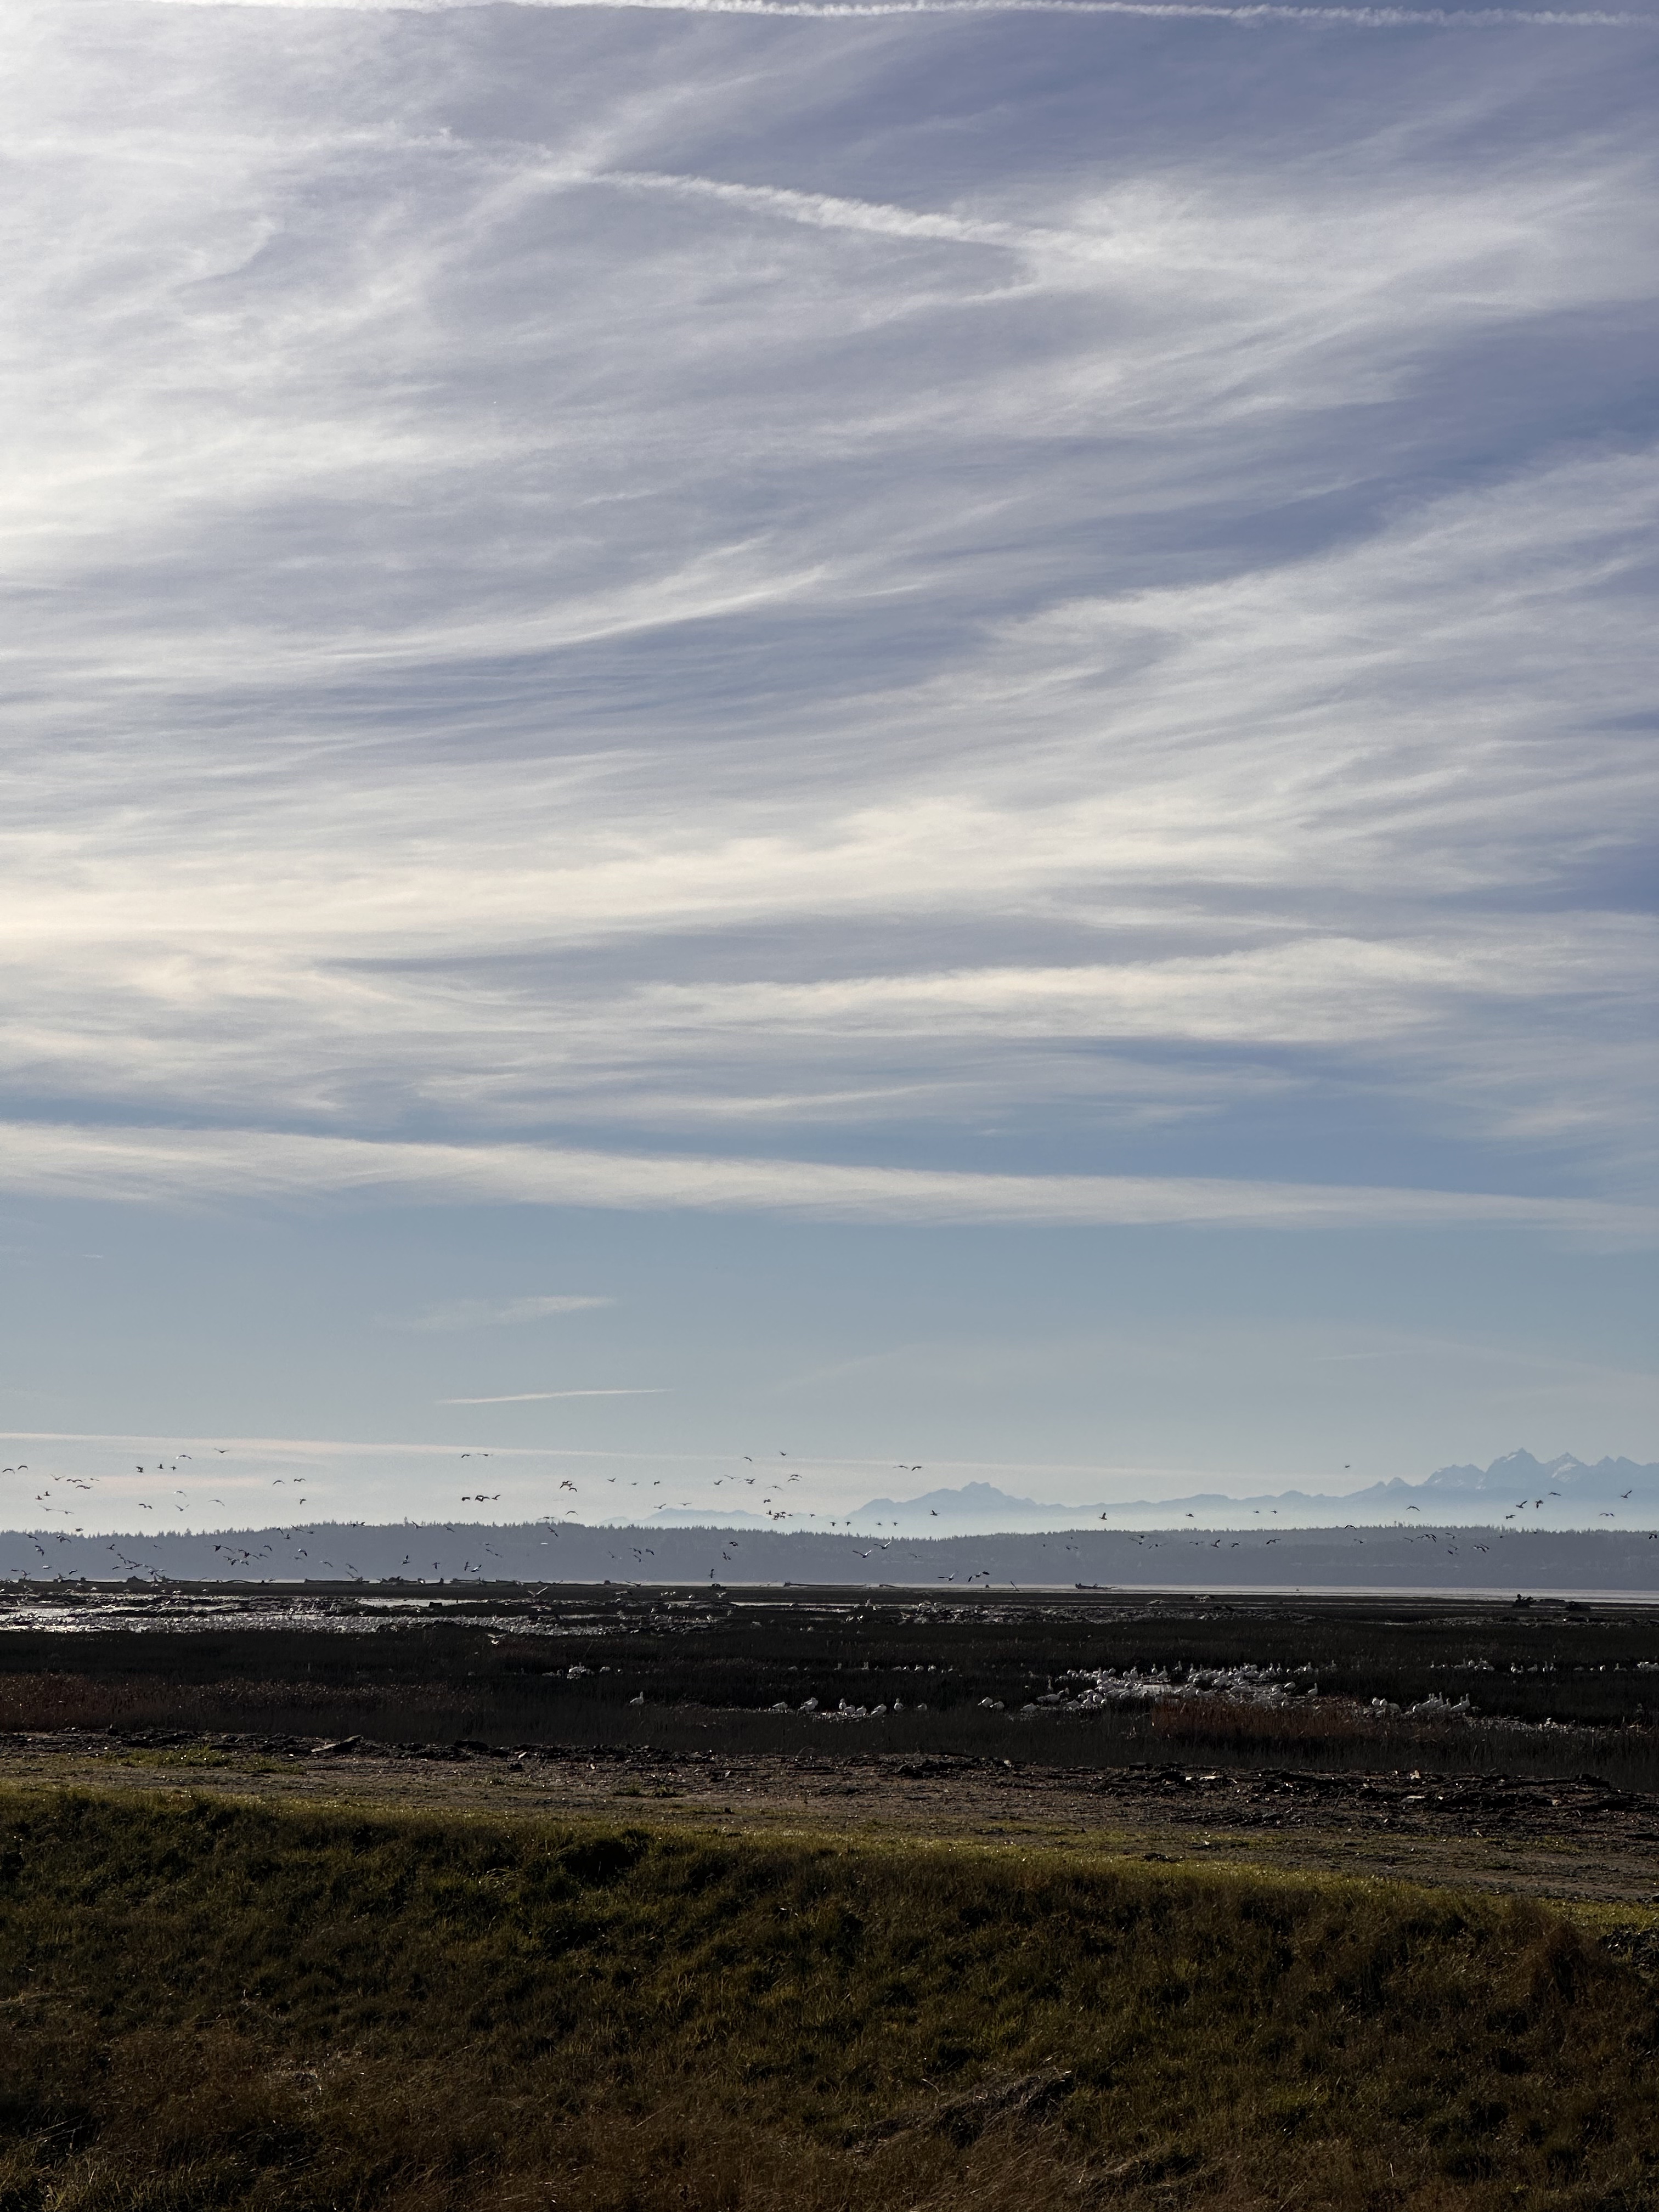
{"label": "strip of bare brownish ground between dark marsh and grassy bank", "polygon": [[887,1836],[1157,1856],[1659,1907],[1659,1798],[1537,1783],[1201,1765],[1077,1772],[971,1759],[734,1759],[653,1750],[425,1754],[319,1739],[0,1739],[0,1783],[272,1803],[613,1818],[721,1834]]}

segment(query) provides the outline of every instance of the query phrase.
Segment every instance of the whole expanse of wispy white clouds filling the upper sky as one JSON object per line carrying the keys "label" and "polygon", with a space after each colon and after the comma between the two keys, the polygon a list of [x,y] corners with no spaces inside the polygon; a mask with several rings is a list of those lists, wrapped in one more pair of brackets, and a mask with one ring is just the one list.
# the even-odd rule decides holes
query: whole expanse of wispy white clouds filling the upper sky
{"label": "whole expanse of wispy white clouds filling the upper sky", "polygon": [[[29,15],[11,1188],[1601,1234],[1659,1075],[1624,31],[690,13],[526,9],[535,86],[440,9]],[[1102,13],[1274,27],[1283,106],[880,119]],[[1447,38],[1321,42],[1310,131],[1318,24]],[[1398,1190],[1263,1175],[1334,1091]]]}

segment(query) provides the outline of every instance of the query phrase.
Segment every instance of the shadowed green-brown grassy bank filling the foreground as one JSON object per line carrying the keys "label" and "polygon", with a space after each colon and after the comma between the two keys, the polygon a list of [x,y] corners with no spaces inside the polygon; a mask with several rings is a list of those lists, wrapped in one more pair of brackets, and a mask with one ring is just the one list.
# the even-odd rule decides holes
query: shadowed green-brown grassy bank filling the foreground
{"label": "shadowed green-brown grassy bank filling the foreground", "polygon": [[1405,1887],[13,1794],[0,1982],[7,2212],[1659,2203],[1644,1980]]}

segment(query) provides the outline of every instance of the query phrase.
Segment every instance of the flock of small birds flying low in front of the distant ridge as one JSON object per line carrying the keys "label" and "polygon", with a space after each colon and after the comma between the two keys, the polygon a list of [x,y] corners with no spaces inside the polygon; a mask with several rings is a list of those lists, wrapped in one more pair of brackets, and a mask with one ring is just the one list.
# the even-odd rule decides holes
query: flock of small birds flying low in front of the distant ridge
{"label": "flock of small birds flying low in front of the distant ridge", "polygon": [[[232,1451],[226,1444],[215,1444],[212,1453],[217,1458],[221,1458],[221,1460],[232,1458]],[[489,1451],[462,1451],[460,1453],[460,1460],[489,1460],[489,1458],[491,1458]],[[728,1495],[732,1495],[734,1500],[741,1498],[741,1493],[745,1489],[757,1491],[759,1498],[754,1502],[759,1504],[759,1509],[765,1513],[768,1522],[772,1522],[779,1533],[783,1531],[783,1526],[787,1522],[796,1522],[801,1526],[805,1526],[807,1522],[812,1522],[823,1533],[832,1533],[832,1531],[838,1528],[843,1535],[852,1535],[852,1515],[845,1515],[845,1517],[836,1520],[836,1515],[832,1515],[832,1513],[823,1513],[821,1515],[816,1509],[805,1506],[801,1502],[805,1495],[810,1495],[810,1491],[803,1491],[799,1486],[799,1484],[803,1484],[803,1478],[805,1478],[807,1469],[803,1469],[799,1464],[790,1467],[787,1464],[787,1460],[790,1460],[787,1451],[779,1451],[776,1460],[781,1464],[772,1464],[772,1460],[768,1458],[757,1469],[757,1460],[752,1458],[752,1453],[743,1453],[743,1467],[745,1469],[757,1469],[757,1471],[752,1471],[752,1473],[739,1473],[737,1469],[732,1469],[732,1471],[728,1471],[723,1475],[714,1475],[712,1478],[712,1489],[714,1491],[728,1491]],[[190,1462],[190,1453],[188,1451],[177,1451],[173,1458],[161,1455],[159,1460],[135,1462],[135,1473],[148,1475],[148,1478],[177,1475],[179,1469],[186,1462]],[[7,1475],[11,1475],[11,1478],[27,1478],[29,1473],[31,1473],[31,1469],[22,1460],[15,1467],[0,1467],[0,1478],[7,1478]],[[920,1475],[922,1473],[922,1462],[920,1460],[916,1460],[916,1462],[900,1460],[896,1464],[896,1473],[900,1473],[900,1475]],[[478,1482],[478,1475],[471,1475],[469,1480]],[[46,1475],[44,1478],[44,1489],[38,1489],[33,1493],[33,1502],[35,1502],[35,1506],[40,1506],[40,1511],[44,1515],[49,1515],[49,1517],[62,1517],[64,1522],[69,1522],[69,1526],[64,1526],[64,1528],[44,1528],[42,1533],[49,1535],[49,1537],[55,1537],[60,1544],[66,1544],[71,1537],[86,1540],[86,1531],[82,1526],[82,1515],[84,1515],[86,1506],[84,1506],[82,1500],[86,1500],[97,1489],[97,1484],[100,1484],[97,1475]],[[186,1528],[179,1531],[181,1535],[190,1533],[188,1509],[190,1509],[192,1502],[195,1504],[204,1504],[206,1502],[206,1504],[215,1504],[215,1506],[221,1506],[221,1509],[226,1506],[226,1500],[221,1495],[208,1493],[206,1489],[190,1491],[190,1489],[184,1489],[181,1484],[168,1486],[161,1480],[153,1480],[146,1486],[150,1486],[155,1491],[155,1498],[137,1498],[137,1500],[133,1500],[133,1504],[137,1506],[137,1511],[139,1513],[161,1515],[161,1520],[157,1520],[157,1522],[150,1524],[150,1526],[157,1526],[157,1528],[159,1526],[168,1526],[166,1515],[177,1515],[179,1520],[186,1522]],[[307,1475],[272,1475],[270,1478],[270,1486],[272,1489],[290,1489],[294,1493],[292,1495],[292,1504],[305,1506],[305,1504],[310,1504],[310,1491],[314,1489],[314,1480],[307,1478]],[[602,1480],[588,1480],[588,1498],[593,1502],[597,1502],[602,1509],[606,1509],[606,1506],[613,1509],[622,1500],[619,1498],[611,1500],[606,1495],[608,1491],[639,1491],[639,1489],[644,1489],[646,1498],[648,1498],[650,1491],[659,1491],[664,1486],[666,1486],[666,1478],[664,1475],[650,1475],[650,1478],[644,1478],[644,1475],[637,1475],[637,1478],[604,1475]],[[542,1526],[542,1528],[549,1531],[549,1535],[542,1540],[544,1544],[551,1542],[551,1537],[555,1537],[568,1522],[577,1522],[580,1528],[593,1533],[593,1524],[582,1520],[582,1502],[580,1502],[582,1495],[584,1495],[582,1484],[566,1475],[566,1478],[560,1480],[555,1495],[562,1498],[564,1493],[568,1493],[577,1502],[571,1504],[571,1506],[564,1506],[562,1513],[544,1513],[544,1515],[538,1517],[538,1526]],[[493,1506],[493,1504],[500,1504],[500,1500],[502,1500],[502,1491],[484,1491],[484,1489],[460,1491],[458,1495],[460,1495],[460,1504],[480,1504],[480,1506],[482,1504],[491,1504]],[[1542,1513],[1546,1500],[1548,1498],[1559,1498],[1559,1495],[1562,1495],[1562,1491],[1546,1491],[1544,1498],[1517,1498],[1515,1504],[1513,1504],[1513,1509],[1509,1509],[1504,1513],[1504,1524],[1511,1524],[1511,1522],[1524,1517],[1528,1511]],[[1632,1491],[1621,1491],[1619,1493],[1621,1502],[1628,1502],[1630,1495],[1632,1495]],[[646,1498],[639,1500],[641,1506],[646,1504]],[[272,1502],[276,1502],[276,1500],[272,1500]],[[650,1506],[653,1515],[655,1513],[675,1511],[675,1509],[677,1511],[701,1511],[701,1504],[692,1506],[690,1500],[677,1500],[677,1506],[670,1506],[670,1500],[664,1498],[664,1500],[657,1500]],[[4,1511],[2,1504],[0,1504],[0,1511]],[[719,1502],[714,1502],[710,1506],[710,1511],[719,1511]],[[748,1504],[745,1504],[745,1511],[748,1511]],[[1270,1515],[1276,1517],[1276,1511],[1279,1511],[1276,1506],[1270,1509]],[[1407,1513],[1420,1513],[1420,1506],[1407,1506],[1405,1511]],[[1252,1513],[1256,1517],[1261,1517],[1261,1509],[1259,1506],[1252,1506]],[[929,1506],[929,1515],[933,1520],[940,1517],[940,1513],[938,1513],[936,1506]],[[1106,1522],[1110,1517],[1110,1509],[1102,1511],[1099,1517],[1102,1517],[1102,1522]],[[1599,1520],[1617,1520],[1617,1511],[1615,1509],[1601,1509],[1597,1517]],[[1192,1513],[1186,1513],[1186,1520],[1192,1522]],[[672,1524],[666,1524],[666,1526],[672,1526]],[[883,1535],[880,1533],[883,1526],[887,1526],[891,1533]],[[265,1542],[237,1544],[237,1542],[232,1542],[226,1535],[226,1540],[217,1542],[212,1548],[221,1557],[223,1566],[232,1571],[232,1575],[237,1571],[241,1571],[241,1573],[248,1575],[248,1579],[261,1579],[261,1582],[263,1579],[272,1579],[270,1573],[265,1573],[261,1577],[252,1577],[252,1568],[261,1566],[265,1562],[276,1562],[279,1559],[279,1544],[283,1546],[281,1557],[285,1559],[285,1564],[299,1566],[301,1562],[305,1562],[307,1575],[312,1571],[321,1568],[321,1571],[327,1571],[332,1575],[345,1575],[345,1577],[356,1579],[356,1582],[380,1579],[380,1577],[365,1575],[352,1559],[341,1557],[336,1562],[336,1559],[323,1557],[321,1551],[316,1555],[312,1555],[310,1546],[316,1544],[319,1537],[327,1537],[327,1542],[334,1548],[341,1548],[341,1553],[343,1553],[345,1546],[338,1544],[338,1537],[343,1537],[349,1528],[363,1528],[363,1522],[327,1522],[327,1524],[323,1524],[319,1528],[314,1522],[296,1515],[294,1520],[290,1520],[290,1522],[281,1524],[281,1526],[274,1526],[274,1528],[268,1528],[268,1531],[259,1531],[259,1535],[263,1535]],[[438,1559],[431,1562],[429,1571],[431,1571],[431,1575],[438,1582],[469,1579],[469,1577],[471,1579],[491,1579],[491,1571],[489,1571],[487,1562],[491,1562],[491,1559],[493,1562],[502,1562],[502,1553],[489,1542],[489,1537],[482,1533],[482,1528],[478,1524],[471,1524],[469,1528],[462,1531],[453,1522],[431,1522],[431,1524],[425,1524],[425,1526],[414,1524],[414,1522],[405,1522],[405,1528],[411,1535],[427,1533],[427,1528],[431,1528],[431,1531],[440,1528],[447,1535],[462,1535],[465,1533],[467,1540],[469,1540],[469,1544],[471,1544],[471,1540],[476,1540],[476,1548],[482,1553],[482,1557],[473,1559],[471,1553],[469,1553],[467,1559],[462,1562],[460,1571],[456,1571],[453,1566],[447,1568],[445,1562],[442,1562],[442,1557],[438,1557]],[[911,1540],[900,1537],[898,1528],[900,1528],[898,1522],[885,1522],[885,1524],[876,1522],[874,1524],[876,1533],[869,1537],[869,1548],[858,1551],[858,1559],[865,1559],[865,1562],[878,1559],[885,1553],[891,1553],[896,1546],[900,1548],[900,1559],[902,1559],[905,1553],[914,1555],[914,1542],[916,1540],[914,1537]],[[1374,1528],[1371,1533],[1374,1535],[1387,1535],[1389,1540],[1398,1542],[1402,1528],[1409,1528],[1409,1524],[1396,1524],[1394,1528],[1387,1528],[1387,1531],[1376,1531]],[[1352,1522],[1345,1524],[1345,1531],[1354,1535],[1356,1544],[1365,1544],[1365,1537],[1356,1531],[1356,1526]],[[624,1533],[626,1535],[644,1535],[648,1531],[641,1531],[641,1528],[628,1528],[628,1531],[617,1528],[617,1535],[624,1535]],[[1051,1540],[1053,1540],[1053,1544],[1060,1546],[1062,1553],[1075,1555],[1075,1557],[1082,1559],[1084,1557],[1082,1546],[1075,1544],[1075,1542],[1071,1542],[1071,1535],[1075,1535],[1075,1533],[1077,1531],[1071,1531],[1071,1533],[1066,1533],[1066,1531],[1051,1531]],[[1239,1546],[1243,1542],[1243,1537],[1210,1535],[1208,1531],[1199,1531],[1199,1528],[1192,1528],[1192,1531],[1186,1531],[1186,1533],[1179,1533],[1179,1531],[1159,1531],[1159,1533],[1152,1533],[1152,1531],[1124,1528],[1124,1531],[1117,1531],[1117,1533],[1121,1537],[1128,1537],[1130,1542],[1139,1544],[1139,1546],[1150,1546],[1152,1551],[1161,1548],[1172,1537],[1179,1537],[1181,1544],[1190,1544],[1194,1548],[1210,1548],[1210,1551],[1223,1551],[1223,1548],[1225,1551],[1239,1551]],[[1502,1533],[1504,1533],[1504,1528],[1493,1528],[1491,1537],[1498,1540],[1498,1537],[1502,1537]],[[714,1531],[710,1531],[710,1535],[719,1544],[719,1564],[723,1564],[723,1566],[734,1564],[734,1559],[737,1559],[737,1555],[741,1553],[741,1546],[743,1546],[743,1537],[739,1535],[739,1531],[714,1528]],[[46,1566],[51,1566],[51,1555],[49,1555],[46,1546],[40,1542],[40,1533],[20,1531],[20,1537],[22,1537],[22,1542],[27,1542],[27,1544],[31,1544],[35,1548],[35,1553],[40,1555],[40,1559]],[[305,1537],[305,1544],[299,1542],[301,1537]],[[1407,1533],[1407,1542],[1436,1544],[1442,1551],[1444,1557],[1455,1557],[1458,1555],[1458,1548],[1460,1548],[1458,1537],[1462,1537],[1462,1542],[1469,1544],[1478,1553],[1491,1551],[1491,1544],[1478,1542],[1471,1531],[1420,1528],[1420,1531]],[[1051,1548],[1051,1540],[1044,1540],[1044,1546],[1042,1546],[1044,1551]],[[133,1540],[126,1537],[126,1542],[131,1544]],[[1270,1535],[1270,1537],[1265,1537],[1267,1546],[1279,1544],[1279,1542],[1283,1542],[1283,1535]],[[1650,1531],[1650,1542],[1659,1542],[1659,1531]],[[117,1566],[126,1568],[128,1575],[146,1575],[150,1579],[166,1579],[166,1575],[164,1575],[164,1571],[159,1566],[155,1566],[153,1562],[133,1559],[126,1551],[122,1551],[122,1542],[117,1542],[117,1540],[108,1540],[106,1542],[106,1551],[117,1562]],[[650,1546],[650,1544],[628,1544],[626,1551],[628,1551],[628,1555],[633,1557],[633,1562],[639,1568],[644,1568],[646,1559],[655,1559],[655,1546]],[[622,1557],[622,1553],[611,1553],[611,1559],[619,1559],[619,1557]],[[394,1577],[389,1577],[389,1579],[403,1579],[405,1573],[414,1582],[425,1582],[427,1579],[425,1555],[416,1557],[414,1551],[405,1553],[400,1571],[396,1571]],[[500,1566],[498,1566],[495,1573],[498,1573],[498,1577],[507,1579],[502,1575]],[[60,1575],[62,1575],[62,1571],[60,1571]],[[712,1562],[708,1566],[708,1577],[710,1577],[710,1582],[719,1579],[719,1566],[712,1564]],[[73,1577],[73,1579],[80,1579],[80,1577]],[[962,1573],[962,1571],[947,1573],[947,1571],[940,1568],[938,1575],[936,1575],[936,1579],[945,1582],[945,1584],[969,1586],[969,1584],[975,1584],[975,1582],[989,1584],[993,1579],[993,1575],[991,1575],[989,1566],[975,1566],[975,1568],[971,1568],[967,1573]]]}

